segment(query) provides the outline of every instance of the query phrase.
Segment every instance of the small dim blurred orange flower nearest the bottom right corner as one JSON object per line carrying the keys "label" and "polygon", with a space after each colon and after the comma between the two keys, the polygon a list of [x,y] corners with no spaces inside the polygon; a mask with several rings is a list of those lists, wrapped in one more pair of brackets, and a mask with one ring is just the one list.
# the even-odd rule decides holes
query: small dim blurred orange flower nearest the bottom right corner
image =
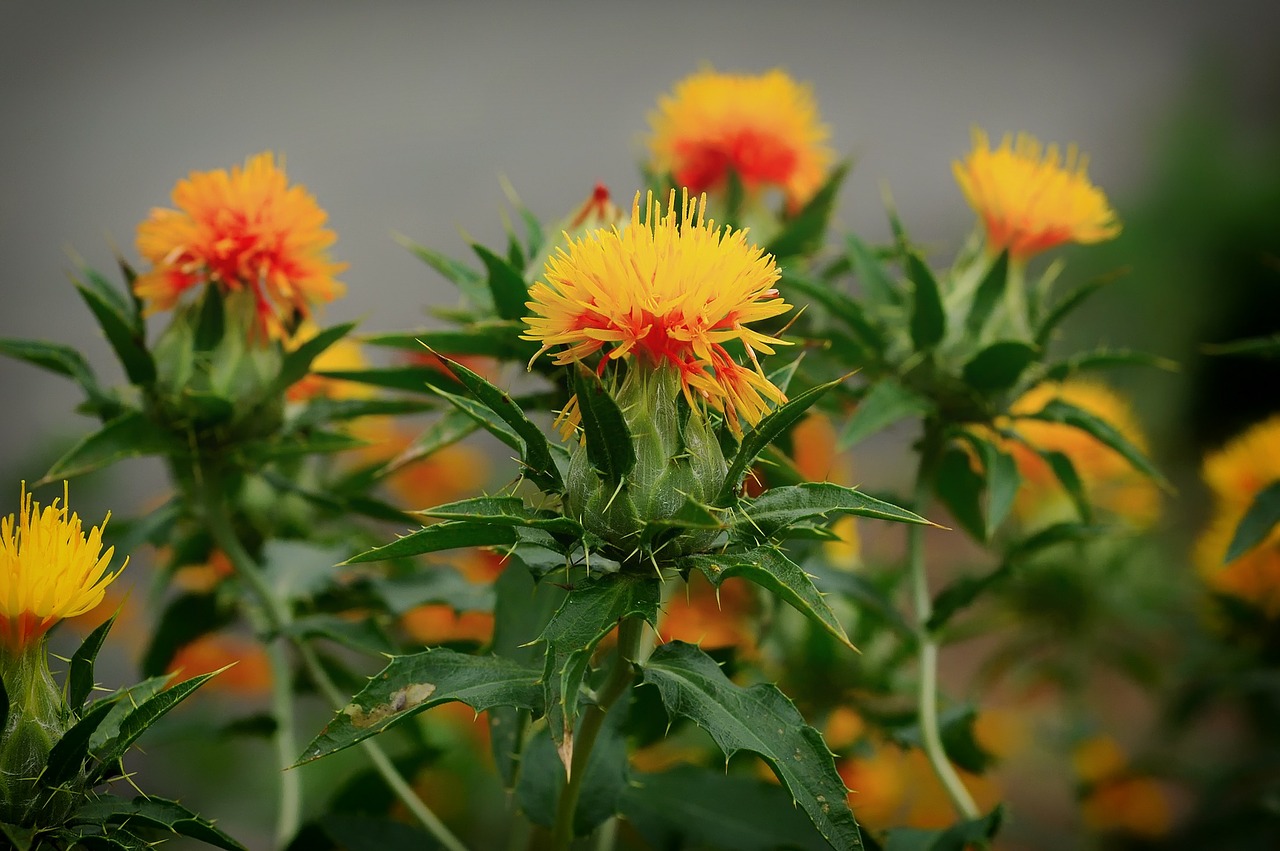
{"label": "small dim blurred orange flower nearest the bottom right corner", "polygon": [[1108,736],[1082,742],[1071,763],[1084,784],[1080,816],[1093,833],[1128,833],[1155,839],[1169,833],[1172,814],[1164,787],[1129,770],[1129,760]]}

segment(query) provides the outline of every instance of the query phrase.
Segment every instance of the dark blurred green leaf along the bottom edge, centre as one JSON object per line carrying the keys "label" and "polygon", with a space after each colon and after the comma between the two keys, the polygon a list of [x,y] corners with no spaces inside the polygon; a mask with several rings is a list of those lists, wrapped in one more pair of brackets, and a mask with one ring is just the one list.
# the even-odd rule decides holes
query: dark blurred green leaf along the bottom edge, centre
{"label": "dark blurred green leaf along the bottom edge, centre", "polygon": [[791,796],[777,783],[680,765],[662,774],[632,774],[622,816],[652,848],[723,851],[826,851]]}

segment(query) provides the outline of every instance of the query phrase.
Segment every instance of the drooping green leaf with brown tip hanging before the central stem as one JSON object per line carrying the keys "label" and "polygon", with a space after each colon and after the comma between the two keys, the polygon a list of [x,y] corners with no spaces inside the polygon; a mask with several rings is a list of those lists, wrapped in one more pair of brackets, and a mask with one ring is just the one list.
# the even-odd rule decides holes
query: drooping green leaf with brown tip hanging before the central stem
{"label": "drooping green leaf with brown tip hanging before the central stem", "polygon": [[573,587],[538,640],[547,645],[543,690],[547,726],[566,769],[572,761],[579,690],[604,636],[626,617],[658,622],[662,582],[657,576],[609,573]]}

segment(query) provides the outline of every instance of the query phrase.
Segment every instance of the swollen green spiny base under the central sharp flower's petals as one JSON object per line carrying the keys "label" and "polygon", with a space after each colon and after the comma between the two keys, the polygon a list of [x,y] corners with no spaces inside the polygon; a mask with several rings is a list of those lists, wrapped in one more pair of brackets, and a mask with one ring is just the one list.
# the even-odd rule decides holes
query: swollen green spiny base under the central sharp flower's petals
{"label": "swollen green spiny base under the central sharp flower's petals", "polygon": [[[600,536],[620,561],[641,548],[646,525],[669,520],[686,499],[709,503],[728,466],[710,425],[682,399],[675,370],[634,369],[616,397],[635,447],[636,463],[621,486],[600,479],[580,444],[570,461],[568,511]],[[714,530],[681,530],[650,553],[671,558],[712,544]]]}

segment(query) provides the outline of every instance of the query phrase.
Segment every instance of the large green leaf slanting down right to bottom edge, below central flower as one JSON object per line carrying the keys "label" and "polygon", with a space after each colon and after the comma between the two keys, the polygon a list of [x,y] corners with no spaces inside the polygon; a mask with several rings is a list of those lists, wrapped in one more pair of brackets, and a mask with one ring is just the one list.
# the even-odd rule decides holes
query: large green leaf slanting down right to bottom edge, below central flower
{"label": "large green leaf slanting down right to bottom edge, below central flower", "polygon": [[831,751],[777,686],[742,688],[714,659],[682,641],[654,650],[644,681],[657,686],[668,713],[704,728],[727,758],[746,750],[768,763],[833,848],[863,847]]}

